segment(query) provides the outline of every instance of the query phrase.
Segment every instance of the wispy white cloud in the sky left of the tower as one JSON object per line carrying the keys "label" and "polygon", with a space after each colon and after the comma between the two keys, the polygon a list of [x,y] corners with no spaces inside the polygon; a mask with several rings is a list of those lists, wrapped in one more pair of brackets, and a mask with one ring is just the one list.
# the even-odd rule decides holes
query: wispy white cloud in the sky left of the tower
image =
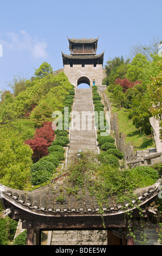
{"label": "wispy white cloud in the sky left of the tower", "polygon": [[45,40],[39,40],[36,37],[30,36],[24,30],[21,30],[19,33],[6,33],[8,40],[0,40],[0,43],[8,47],[13,51],[28,51],[34,58],[43,58],[47,57],[48,53],[46,51],[47,42]]}

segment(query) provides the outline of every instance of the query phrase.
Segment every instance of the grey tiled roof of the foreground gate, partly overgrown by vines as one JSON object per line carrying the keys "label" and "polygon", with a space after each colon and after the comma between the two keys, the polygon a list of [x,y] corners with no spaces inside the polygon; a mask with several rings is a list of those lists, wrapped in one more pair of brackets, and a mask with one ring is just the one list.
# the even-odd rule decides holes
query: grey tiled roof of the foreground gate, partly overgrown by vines
{"label": "grey tiled roof of the foreground gate, partly overgrown by vines", "polygon": [[[67,193],[65,182],[68,173],[58,176],[53,183],[33,191],[20,191],[6,186],[0,186],[0,196],[17,208],[28,211],[32,214],[57,216],[58,213],[71,215],[96,215],[98,216],[99,205],[96,195],[91,196],[88,188],[78,190],[76,195]],[[141,205],[148,202],[158,194],[158,186],[161,180],[148,187],[138,188],[134,191]],[[132,202],[136,208],[135,200]],[[116,201],[115,197],[108,198],[108,204],[102,203],[102,210],[105,215],[122,214],[122,206],[130,209],[129,202],[123,205]],[[132,206],[131,206],[132,207]]]}

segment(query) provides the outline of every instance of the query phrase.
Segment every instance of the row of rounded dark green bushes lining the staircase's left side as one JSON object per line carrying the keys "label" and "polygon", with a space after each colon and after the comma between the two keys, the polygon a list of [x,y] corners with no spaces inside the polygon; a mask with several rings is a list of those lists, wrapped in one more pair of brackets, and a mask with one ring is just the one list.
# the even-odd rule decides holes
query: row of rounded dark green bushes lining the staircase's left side
{"label": "row of rounded dark green bushes lining the staircase's left side", "polygon": [[[71,111],[71,105],[73,103],[74,97],[74,89],[68,91],[68,95],[65,96],[64,107],[68,107]],[[52,179],[52,175],[57,172],[57,167],[59,166],[60,161],[65,160],[65,149],[66,145],[70,142],[67,135],[68,125],[71,121],[70,118],[66,118],[66,111],[63,107],[63,129],[59,129],[59,125],[57,124],[57,129],[55,130],[55,135],[57,137],[52,142],[51,146],[48,147],[48,155],[43,156],[38,162],[34,163],[31,168],[31,182],[34,186],[40,185],[48,182]],[[65,130],[65,125],[67,125],[67,129]]]}

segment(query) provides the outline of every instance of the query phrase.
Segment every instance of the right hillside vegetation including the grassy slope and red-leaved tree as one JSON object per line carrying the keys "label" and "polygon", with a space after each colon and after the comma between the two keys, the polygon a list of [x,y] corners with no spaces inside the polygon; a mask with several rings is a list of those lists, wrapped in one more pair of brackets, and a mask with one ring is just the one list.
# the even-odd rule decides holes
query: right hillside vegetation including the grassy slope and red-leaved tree
{"label": "right hillside vegetation including the grassy slope and red-leaved tree", "polygon": [[151,54],[149,61],[141,53],[132,62],[115,57],[105,66],[107,94],[113,112],[119,113],[120,132],[126,135],[135,150],[155,147],[149,118],[160,120],[162,139],[162,61],[157,54]]}

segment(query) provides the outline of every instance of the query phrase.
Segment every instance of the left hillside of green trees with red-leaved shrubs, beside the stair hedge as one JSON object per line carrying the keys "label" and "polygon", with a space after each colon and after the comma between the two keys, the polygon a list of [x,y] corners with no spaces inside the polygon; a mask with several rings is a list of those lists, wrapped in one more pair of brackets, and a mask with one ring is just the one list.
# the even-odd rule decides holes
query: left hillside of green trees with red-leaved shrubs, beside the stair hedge
{"label": "left hillside of green trees with red-leaved shrubs, beside the stair hedge", "polygon": [[11,87],[13,92],[1,93],[0,183],[22,190],[32,185],[33,163],[48,155],[55,137],[52,113],[62,111],[73,87],[64,72],[54,75],[48,63],[30,80],[15,78]]}

